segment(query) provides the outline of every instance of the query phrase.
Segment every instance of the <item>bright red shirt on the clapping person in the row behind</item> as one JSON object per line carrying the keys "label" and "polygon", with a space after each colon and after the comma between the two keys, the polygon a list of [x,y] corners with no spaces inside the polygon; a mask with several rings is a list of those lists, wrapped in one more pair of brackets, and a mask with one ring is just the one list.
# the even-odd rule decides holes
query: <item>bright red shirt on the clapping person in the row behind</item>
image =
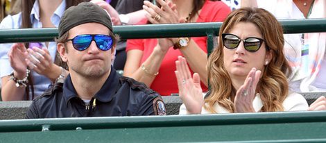
{"label": "bright red shirt on the clapping person in the row behind", "polygon": [[[230,13],[230,8],[225,5],[222,1],[205,1],[202,10],[198,16],[196,22],[223,22],[223,20],[228,17]],[[146,24],[147,19],[142,19],[139,24]],[[207,37],[191,37],[194,42],[198,44],[200,49],[203,49],[207,53]],[[141,58],[141,63],[143,63],[148,56],[153,52],[154,47],[157,45],[157,39],[137,39],[137,40],[127,40],[126,51],[132,49],[138,49],[143,51],[143,57]],[[151,89],[160,93],[163,96],[178,94],[178,83],[175,77],[175,60],[178,60],[178,56],[182,56],[179,50],[174,50],[172,47],[166,53],[162,61],[162,65],[159,69],[160,74],[158,74],[153,83],[151,84]],[[196,58],[196,57],[194,57]],[[140,63],[140,65],[141,65]],[[191,74],[193,72],[191,71]],[[203,91],[207,91],[207,87],[201,84]]]}

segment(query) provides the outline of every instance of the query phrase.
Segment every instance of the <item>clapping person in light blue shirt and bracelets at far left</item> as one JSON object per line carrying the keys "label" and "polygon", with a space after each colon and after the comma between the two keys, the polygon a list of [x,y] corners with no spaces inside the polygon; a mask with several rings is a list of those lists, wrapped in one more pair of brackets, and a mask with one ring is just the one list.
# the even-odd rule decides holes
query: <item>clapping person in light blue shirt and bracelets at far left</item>
{"label": "clapping person in light blue shirt and bracelets at far left", "polygon": [[[65,9],[86,0],[24,0],[22,12],[8,15],[0,28],[58,27]],[[0,44],[3,101],[33,100],[67,71],[58,66],[55,42]],[[53,63],[55,62],[55,64]]]}

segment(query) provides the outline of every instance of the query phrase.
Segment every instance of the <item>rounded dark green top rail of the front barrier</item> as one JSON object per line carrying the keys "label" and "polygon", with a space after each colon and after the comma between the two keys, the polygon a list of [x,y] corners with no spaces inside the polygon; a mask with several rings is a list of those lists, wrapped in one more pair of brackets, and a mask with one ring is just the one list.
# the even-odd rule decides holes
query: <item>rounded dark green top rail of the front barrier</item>
{"label": "rounded dark green top rail of the front barrier", "polygon": [[[51,130],[83,128],[135,128],[153,126],[207,126],[227,124],[275,124],[290,122],[326,122],[326,111],[318,112],[260,112],[219,115],[172,115],[139,117],[83,117],[58,119],[0,120],[0,132],[41,131],[43,125]],[[326,128],[325,128],[326,130]]]}

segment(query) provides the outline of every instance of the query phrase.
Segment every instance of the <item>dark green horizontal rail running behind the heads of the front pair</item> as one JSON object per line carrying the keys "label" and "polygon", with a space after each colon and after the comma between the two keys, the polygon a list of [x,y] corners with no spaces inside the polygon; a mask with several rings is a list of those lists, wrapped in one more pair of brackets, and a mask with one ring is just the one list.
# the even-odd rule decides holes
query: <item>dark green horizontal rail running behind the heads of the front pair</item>
{"label": "dark green horizontal rail running behind the heads of the front pair", "polygon": [[[326,32],[326,19],[292,19],[280,21],[285,33]],[[114,26],[114,33],[123,39],[157,37],[199,37],[208,33],[218,35],[221,22],[191,24],[150,24]],[[1,29],[0,43],[53,41],[58,28]]]}

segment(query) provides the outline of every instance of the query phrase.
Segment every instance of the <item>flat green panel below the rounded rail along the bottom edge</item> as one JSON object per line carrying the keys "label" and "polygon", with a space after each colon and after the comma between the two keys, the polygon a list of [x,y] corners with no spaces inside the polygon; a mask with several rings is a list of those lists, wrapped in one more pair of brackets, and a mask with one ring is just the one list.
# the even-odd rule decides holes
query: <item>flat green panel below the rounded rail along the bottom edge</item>
{"label": "flat green panel below the rounded rail along the bottom edge", "polygon": [[[257,124],[180,128],[113,128],[102,130],[1,133],[10,142],[325,142],[323,124]],[[304,127],[309,126],[305,129]],[[273,128],[273,129],[271,129]],[[317,133],[314,131],[321,131]],[[314,133],[311,135],[311,132]]]}

